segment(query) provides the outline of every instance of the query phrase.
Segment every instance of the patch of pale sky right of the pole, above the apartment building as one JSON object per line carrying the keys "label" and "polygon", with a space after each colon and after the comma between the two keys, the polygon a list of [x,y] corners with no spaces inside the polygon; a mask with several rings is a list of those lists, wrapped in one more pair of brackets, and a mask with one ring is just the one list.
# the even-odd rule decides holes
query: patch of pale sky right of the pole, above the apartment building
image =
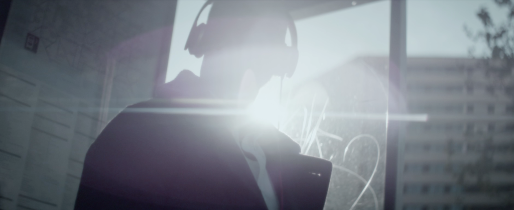
{"label": "patch of pale sky right of the pole, above the apartment building", "polygon": [[474,31],[481,29],[476,16],[481,7],[488,8],[493,20],[505,20],[506,11],[492,0],[408,1],[407,55],[468,56],[473,42],[467,38],[464,25]]}

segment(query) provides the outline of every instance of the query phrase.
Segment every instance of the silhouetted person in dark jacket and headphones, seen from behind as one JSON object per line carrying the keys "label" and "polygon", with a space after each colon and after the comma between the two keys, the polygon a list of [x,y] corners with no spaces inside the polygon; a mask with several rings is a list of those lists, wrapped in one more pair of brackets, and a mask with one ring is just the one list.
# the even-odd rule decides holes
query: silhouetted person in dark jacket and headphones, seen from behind
{"label": "silhouetted person in dark jacket and headphones, seen from behind", "polygon": [[332,164],[244,114],[273,75],[296,67],[292,19],[276,3],[208,4],[207,24],[195,21],[186,44],[204,56],[200,77],[183,70],[105,127],[75,209],[323,208]]}

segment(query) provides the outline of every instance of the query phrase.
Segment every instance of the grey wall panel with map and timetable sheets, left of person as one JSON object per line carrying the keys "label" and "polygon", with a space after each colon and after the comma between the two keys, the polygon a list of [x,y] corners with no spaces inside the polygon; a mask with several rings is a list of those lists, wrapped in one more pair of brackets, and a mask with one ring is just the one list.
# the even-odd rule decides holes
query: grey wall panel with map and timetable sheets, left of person
{"label": "grey wall panel with map and timetable sheets, left of person", "polygon": [[0,46],[0,209],[73,209],[89,145],[164,81],[175,6],[12,2]]}

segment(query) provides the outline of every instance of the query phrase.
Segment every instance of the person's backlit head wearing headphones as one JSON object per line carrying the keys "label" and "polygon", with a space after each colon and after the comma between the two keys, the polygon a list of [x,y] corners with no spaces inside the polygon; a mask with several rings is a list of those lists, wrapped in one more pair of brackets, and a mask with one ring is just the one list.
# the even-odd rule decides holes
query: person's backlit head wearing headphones
{"label": "person's backlit head wearing headphones", "polygon": [[296,43],[286,46],[286,31],[289,27],[292,42],[296,42],[296,29],[291,28],[292,20],[278,3],[214,1],[207,24],[193,27],[186,45],[191,54],[204,56],[200,77],[230,92],[237,91],[248,70],[257,89],[272,75],[290,76],[298,51]]}

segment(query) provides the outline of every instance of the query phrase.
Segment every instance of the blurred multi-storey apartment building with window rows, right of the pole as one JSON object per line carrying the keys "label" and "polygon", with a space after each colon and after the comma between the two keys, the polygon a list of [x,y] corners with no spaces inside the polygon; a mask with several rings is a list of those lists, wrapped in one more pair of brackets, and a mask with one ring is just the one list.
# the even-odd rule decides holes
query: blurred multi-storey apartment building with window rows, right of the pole
{"label": "blurred multi-storey apartment building with window rows, right of the pole", "polygon": [[[402,89],[403,209],[511,209],[513,99],[471,59],[409,58]],[[400,168],[401,169],[401,168]]]}

